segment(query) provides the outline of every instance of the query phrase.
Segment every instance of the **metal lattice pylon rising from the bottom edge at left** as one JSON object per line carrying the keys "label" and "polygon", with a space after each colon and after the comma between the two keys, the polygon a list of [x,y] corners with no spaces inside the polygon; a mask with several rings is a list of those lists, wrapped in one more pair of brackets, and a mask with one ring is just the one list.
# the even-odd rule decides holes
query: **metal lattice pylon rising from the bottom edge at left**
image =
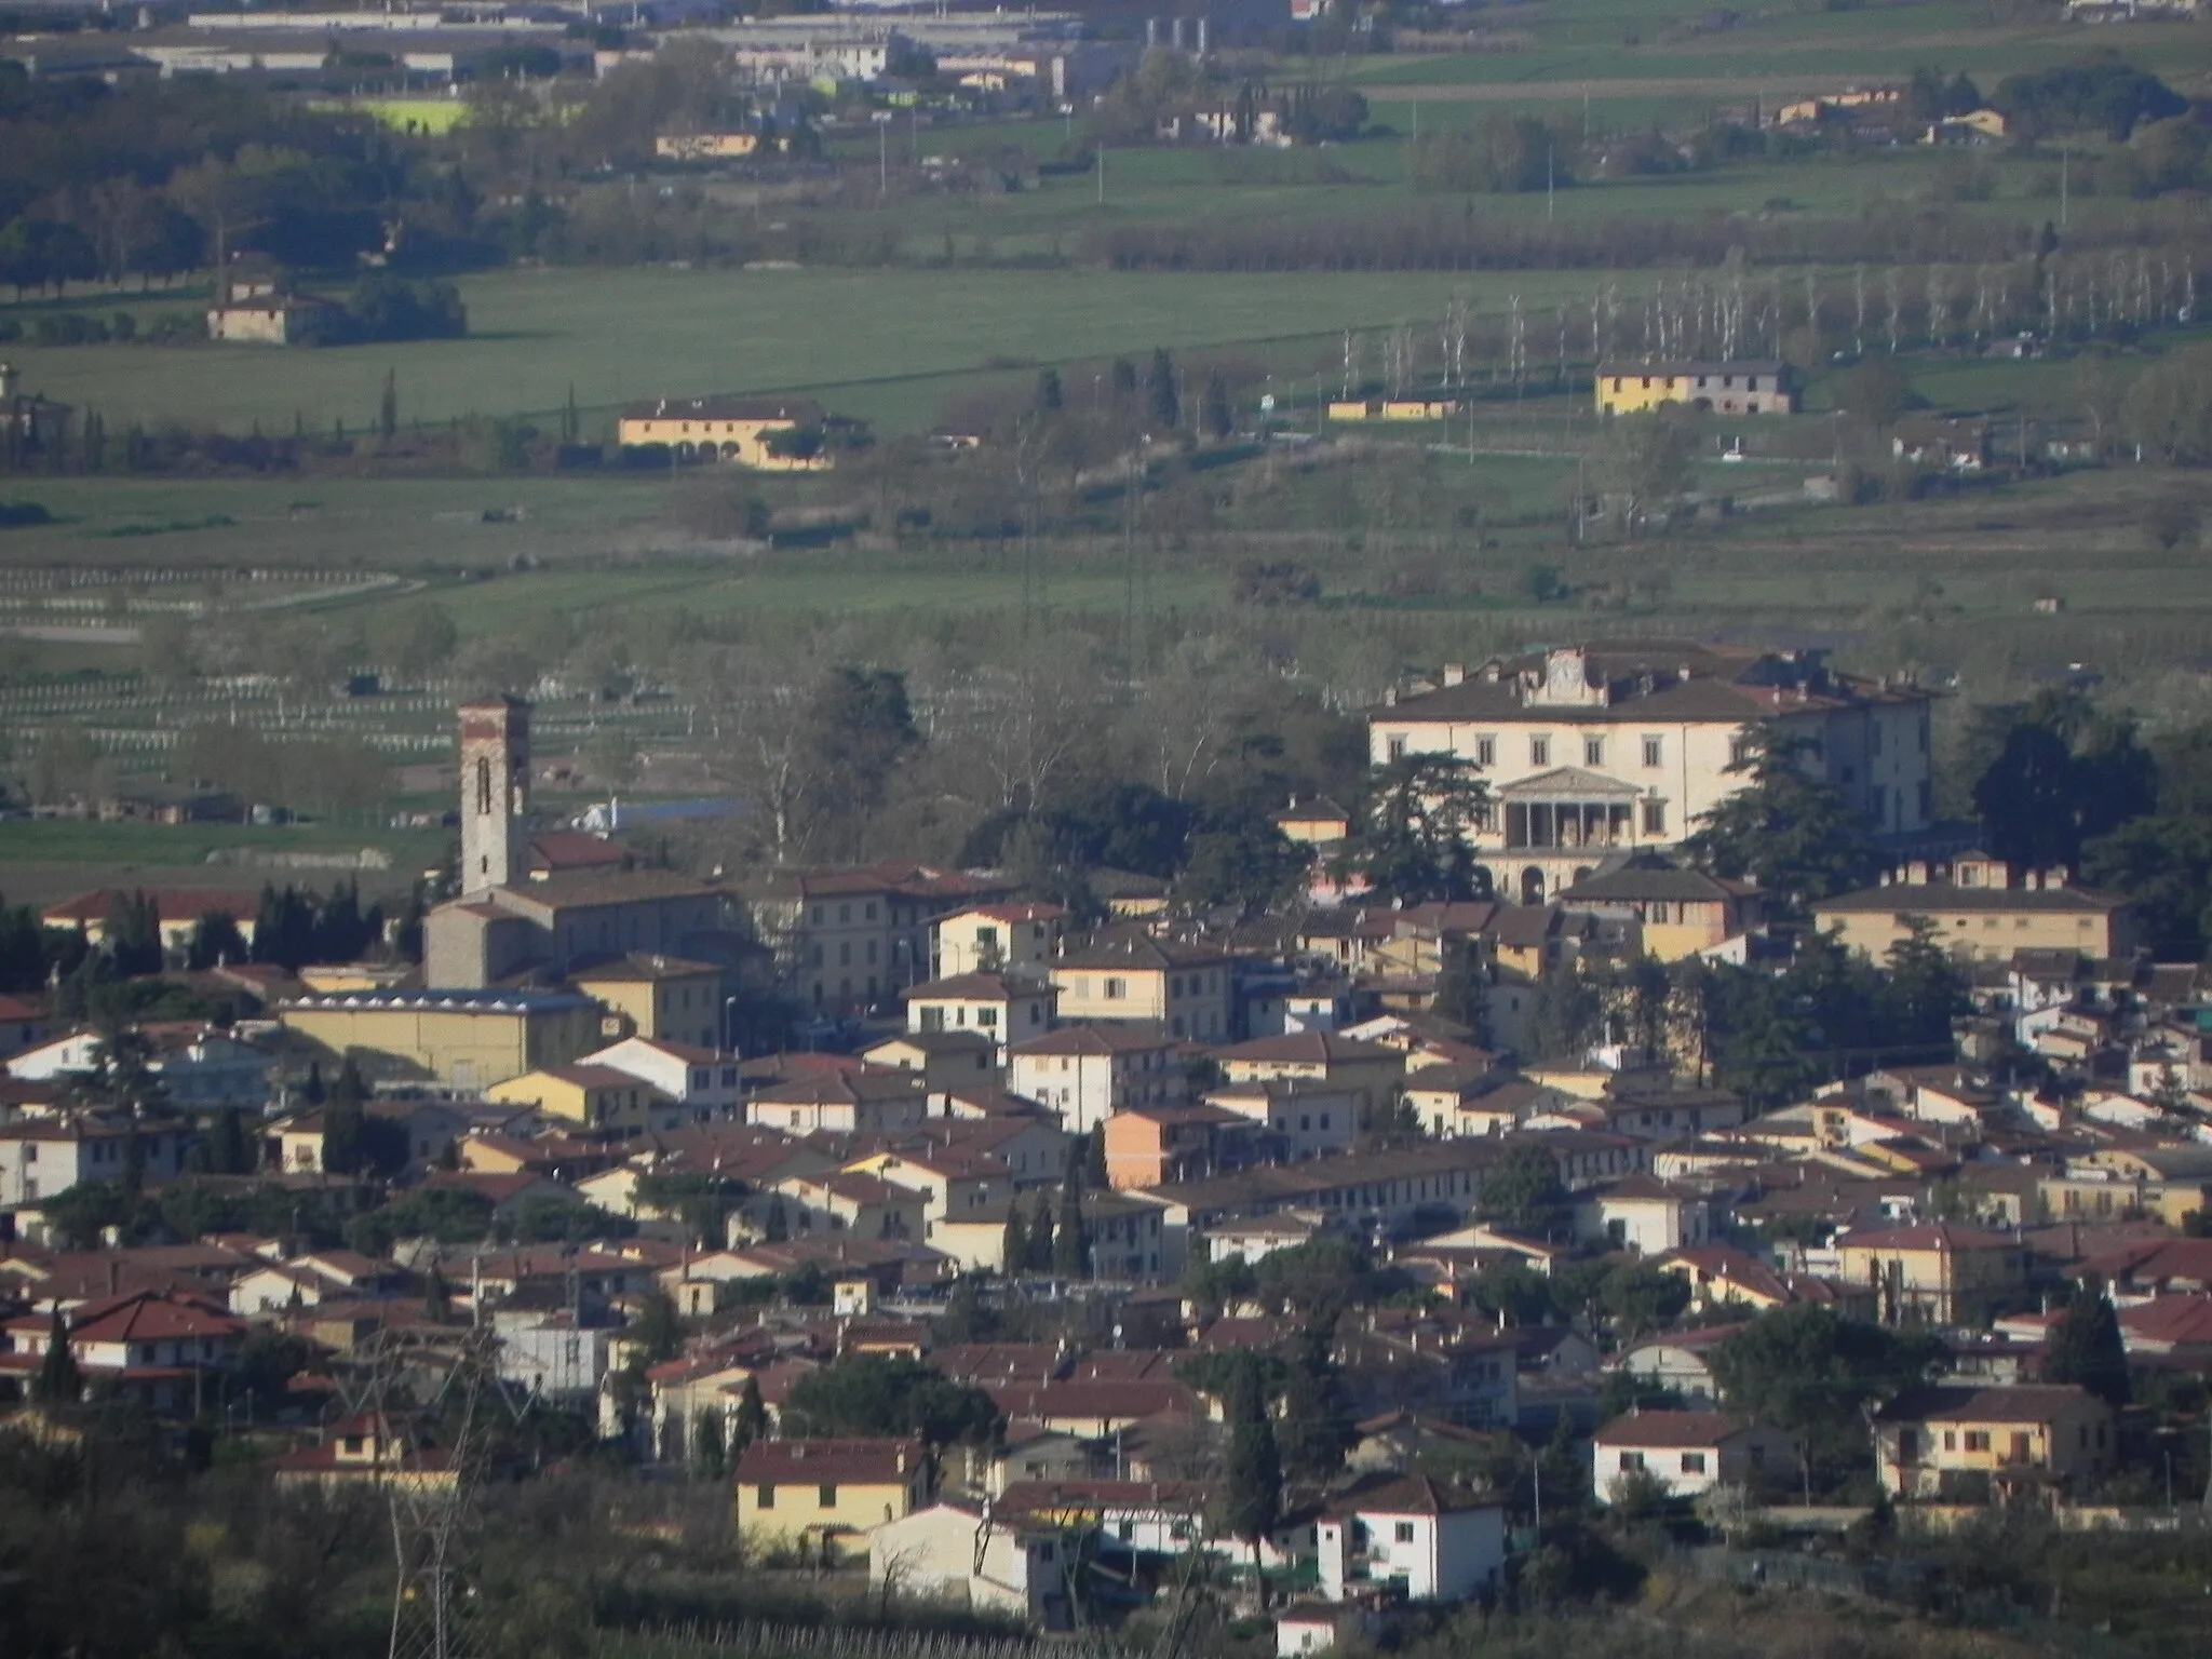
{"label": "metal lattice pylon rising from the bottom edge at left", "polygon": [[[431,1409],[447,1407],[451,1442],[436,1451],[403,1451],[385,1491],[392,1504],[392,1659],[471,1659],[482,1652],[469,1619],[473,1590],[462,1584],[462,1551],[476,1517],[480,1418],[493,1365],[491,1334],[471,1332]],[[378,1380],[392,1374],[378,1365]],[[378,1391],[383,1391],[378,1387]]]}

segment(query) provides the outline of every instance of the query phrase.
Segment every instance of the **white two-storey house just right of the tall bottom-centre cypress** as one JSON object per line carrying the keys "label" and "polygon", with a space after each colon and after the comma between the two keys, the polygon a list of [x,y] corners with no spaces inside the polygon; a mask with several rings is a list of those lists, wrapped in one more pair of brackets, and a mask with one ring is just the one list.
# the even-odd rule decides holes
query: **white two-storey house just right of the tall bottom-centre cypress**
{"label": "white two-storey house just right of the tall bottom-centre cypress", "polygon": [[1504,1500],[1467,1495],[1427,1475],[1365,1475],[1327,1500],[1314,1544],[1329,1601],[1371,1590],[1467,1601],[1500,1586]]}

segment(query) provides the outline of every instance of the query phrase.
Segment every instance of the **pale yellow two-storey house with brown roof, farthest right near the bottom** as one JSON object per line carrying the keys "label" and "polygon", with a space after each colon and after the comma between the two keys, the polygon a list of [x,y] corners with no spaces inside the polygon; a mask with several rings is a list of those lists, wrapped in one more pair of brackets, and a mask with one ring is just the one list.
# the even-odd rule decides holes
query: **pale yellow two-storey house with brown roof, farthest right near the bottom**
{"label": "pale yellow two-storey house with brown roof, farthest right near the bottom", "polygon": [[1874,1420],[1874,1460],[1891,1498],[1991,1498],[2112,1464],[2112,1411],[2073,1385],[1933,1387],[1902,1394]]}

